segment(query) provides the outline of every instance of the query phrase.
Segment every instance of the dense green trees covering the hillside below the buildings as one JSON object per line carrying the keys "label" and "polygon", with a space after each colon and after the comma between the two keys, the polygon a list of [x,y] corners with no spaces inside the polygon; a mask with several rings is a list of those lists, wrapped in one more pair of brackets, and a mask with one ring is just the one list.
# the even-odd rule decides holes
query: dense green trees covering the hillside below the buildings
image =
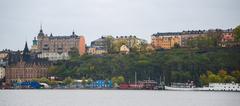
{"label": "dense green trees covering the hillside below the buildings", "polygon": [[[164,76],[166,84],[193,80],[200,85],[200,75],[207,73],[207,70],[213,73],[220,69],[228,70],[229,73],[239,70],[239,52],[239,48],[174,48],[151,54],[130,52],[128,55],[83,55],[58,61],[49,71],[53,76],[62,79],[70,76],[76,79],[85,77],[99,80],[123,76],[128,82],[134,82],[136,72],[138,80],[151,78],[159,81],[160,76]],[[215,76],[211,77],[211,80],[219,80]]]}

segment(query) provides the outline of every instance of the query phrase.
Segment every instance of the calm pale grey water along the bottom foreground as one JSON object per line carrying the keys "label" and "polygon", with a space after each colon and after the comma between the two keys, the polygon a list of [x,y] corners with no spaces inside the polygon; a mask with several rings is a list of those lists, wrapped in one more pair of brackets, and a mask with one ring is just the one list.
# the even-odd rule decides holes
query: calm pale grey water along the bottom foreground
{"label": "calm pale grey water along the bottom foreground", "polygon": [[0,90],[0,106],[240,106],[239,92]]}

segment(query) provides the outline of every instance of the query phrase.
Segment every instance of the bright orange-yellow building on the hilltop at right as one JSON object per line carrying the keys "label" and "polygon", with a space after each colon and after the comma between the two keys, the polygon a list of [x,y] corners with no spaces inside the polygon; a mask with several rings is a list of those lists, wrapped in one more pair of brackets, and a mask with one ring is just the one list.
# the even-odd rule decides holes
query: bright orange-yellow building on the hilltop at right
{"label": "bright orange-yellow building on the hilltop at right", "polygon": [[151,45],[155,49],[171,49],[175,45],[181,45],[181,33],[168,32],[153,34]]}

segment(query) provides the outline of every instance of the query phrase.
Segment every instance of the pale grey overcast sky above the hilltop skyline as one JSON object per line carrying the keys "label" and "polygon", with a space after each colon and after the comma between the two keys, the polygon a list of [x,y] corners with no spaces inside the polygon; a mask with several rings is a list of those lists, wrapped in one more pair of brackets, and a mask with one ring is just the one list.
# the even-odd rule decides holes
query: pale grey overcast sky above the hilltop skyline
{"label": "pale grey overcast sky above the hilltop skyline", "polygon": [[227,29],[240,25],[240,0],[0,0],[0,50],[23,50],[37,36],[85,36]]}

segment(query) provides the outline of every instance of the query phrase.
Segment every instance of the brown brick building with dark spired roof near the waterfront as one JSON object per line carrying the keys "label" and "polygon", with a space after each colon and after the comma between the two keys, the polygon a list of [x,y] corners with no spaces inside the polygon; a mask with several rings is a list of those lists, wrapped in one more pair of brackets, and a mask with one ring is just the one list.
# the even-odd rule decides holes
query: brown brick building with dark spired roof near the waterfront
{"label": "brown brick building with dark spired roof near the waterfront", "polygon": [[17,52],[10,55],[9,63],[6,66],[5,78],[7,84],[48,77],[48,67],[51,65],[44,59],[32,58],[27,43],[22,53]]}

